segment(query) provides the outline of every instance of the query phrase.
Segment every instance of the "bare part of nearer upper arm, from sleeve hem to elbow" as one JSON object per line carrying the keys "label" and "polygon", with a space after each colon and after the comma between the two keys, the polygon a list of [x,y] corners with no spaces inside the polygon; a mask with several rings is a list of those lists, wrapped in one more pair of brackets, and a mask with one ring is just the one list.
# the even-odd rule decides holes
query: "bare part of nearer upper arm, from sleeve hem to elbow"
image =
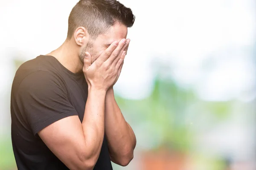
{"label": "bare part of nearer upper arm, from sleeve hem to elbow", "polygon": [[45,127],[38,135],[47,147],[72,170],[93,167],[86,157],[84,134],[78,116],[70,116]]}

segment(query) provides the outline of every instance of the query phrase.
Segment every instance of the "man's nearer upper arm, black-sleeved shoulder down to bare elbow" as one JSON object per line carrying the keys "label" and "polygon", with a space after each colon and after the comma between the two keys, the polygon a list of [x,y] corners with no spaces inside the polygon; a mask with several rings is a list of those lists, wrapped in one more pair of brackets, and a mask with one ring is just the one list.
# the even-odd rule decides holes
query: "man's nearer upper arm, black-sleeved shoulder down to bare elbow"
{"label": "man's nearer upper arm, black-sleeved shoulder down to bare elbow", "polygon": [[58,159],[70,169],[93,166],[86,157],[81,121],[61,80],[44,71],[30,74],[15,96],[32,133],[38,133]]}

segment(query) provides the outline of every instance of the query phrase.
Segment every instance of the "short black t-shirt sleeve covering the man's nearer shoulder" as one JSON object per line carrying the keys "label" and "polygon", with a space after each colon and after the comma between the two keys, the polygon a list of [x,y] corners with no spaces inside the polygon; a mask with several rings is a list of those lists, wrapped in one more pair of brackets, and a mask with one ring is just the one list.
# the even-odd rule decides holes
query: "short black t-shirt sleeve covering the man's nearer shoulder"
{"label": "short black t-shirt sleeve covering the man's nearer shoulder", "polygon": [[64,82],[45,71],[29,74],[23,79],[16,102],[34,135],[60,119],[78,115],[68,99]]}

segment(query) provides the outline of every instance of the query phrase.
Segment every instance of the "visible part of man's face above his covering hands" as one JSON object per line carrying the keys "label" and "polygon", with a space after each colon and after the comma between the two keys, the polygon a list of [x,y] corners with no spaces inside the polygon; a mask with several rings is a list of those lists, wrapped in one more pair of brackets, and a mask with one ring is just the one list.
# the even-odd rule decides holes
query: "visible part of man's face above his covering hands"
{"label": "visible part of man's face above his covering hands", "polygon": [[127,27],[123,24],[116,23],[111,26],[105,34],[99,35],[95,40],[89,40],[79,55],[81,62],[84,61],[85,52],[89,52],[94,62],[114,41],[120,41],[127,36]]}

